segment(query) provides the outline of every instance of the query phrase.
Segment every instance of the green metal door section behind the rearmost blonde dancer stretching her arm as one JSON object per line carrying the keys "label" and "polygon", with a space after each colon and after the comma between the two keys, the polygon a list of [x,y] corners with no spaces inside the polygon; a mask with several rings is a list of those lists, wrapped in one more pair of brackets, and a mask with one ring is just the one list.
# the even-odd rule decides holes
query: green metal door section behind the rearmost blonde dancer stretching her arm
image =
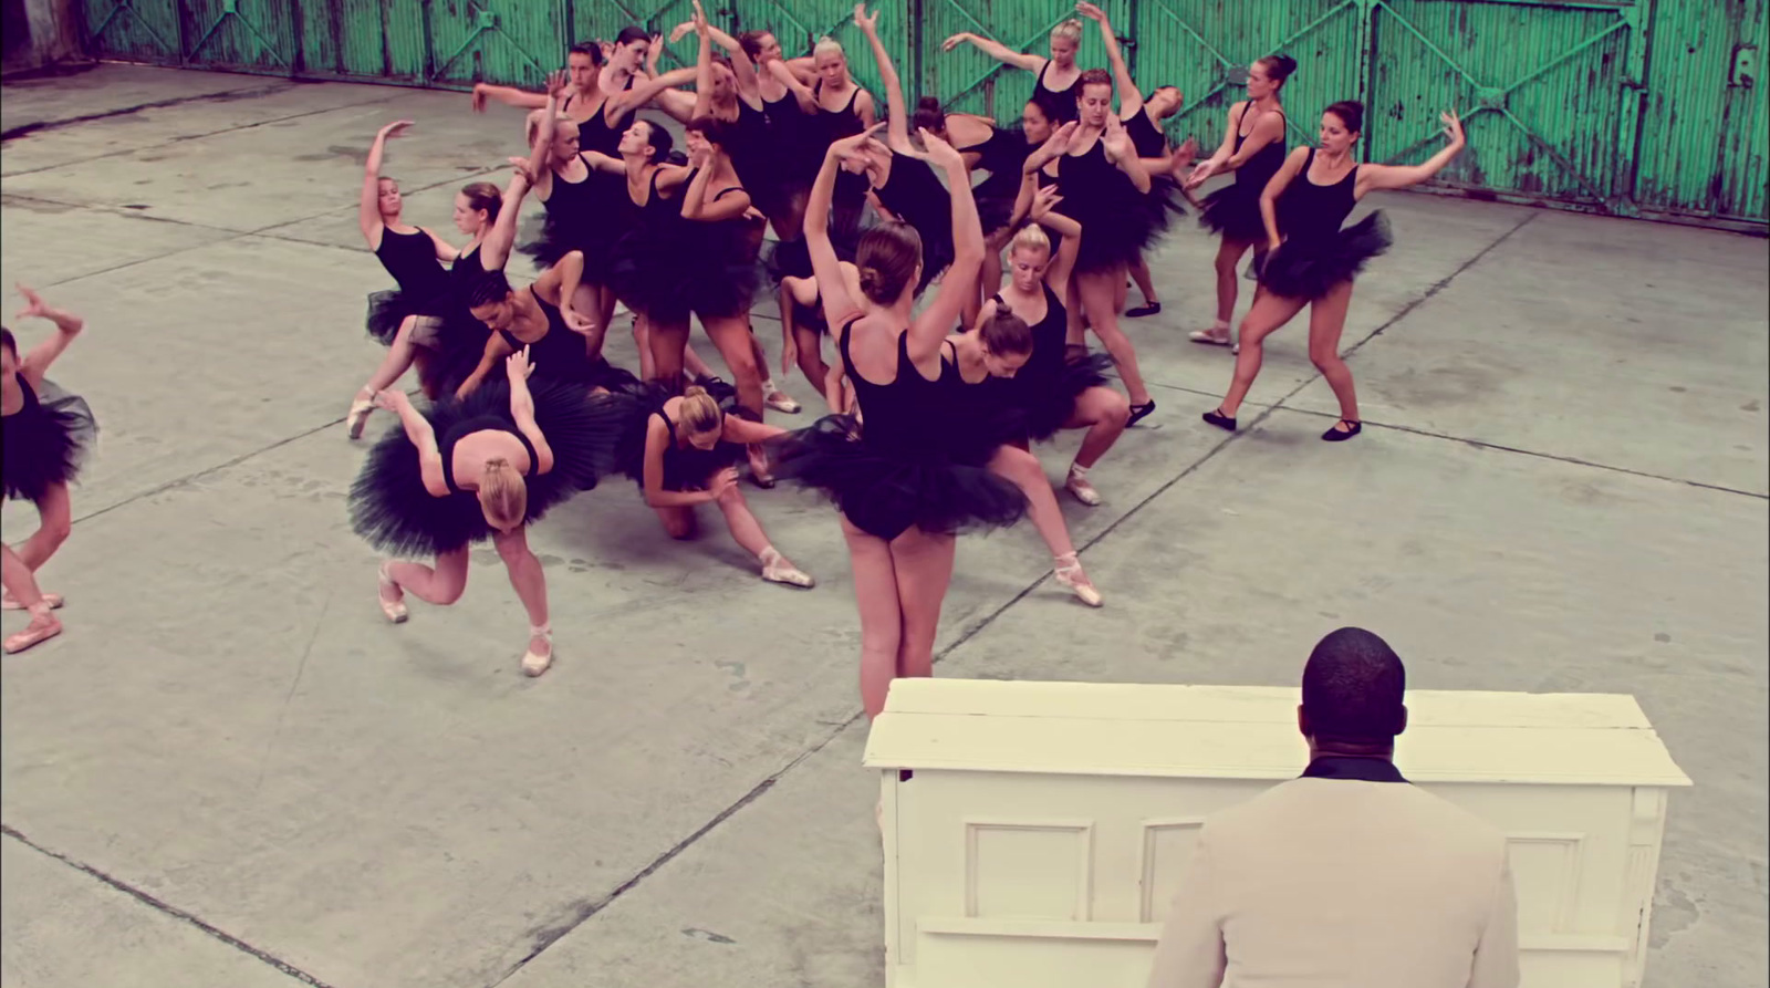
{"label": "green metal door section behind the rearmost blonde dancer stretching her arm", "polygon": [[[1103,0],[1101,9],[1120,37],[1131,34],[1127,0]],[[922,89],[938,96],[949,112],[981,113],[997,120],[1018,120],[1032,97],[1035,76],[1004,66],[970,44],[942,51],[940,42],[959,32],[1000,41],[1014,51],[1050,57],[1051,28],[1074,18],[1073,4],[1027,4],[1025,0],[922,0]],[[1126,48],[1126,58],[1135,58]],[[1099,25],[1081,21],[1081,48],[1076,64],[1083,69],[1106,67],[1106,48]],[[917,94],[910,94],[915,99]]]}

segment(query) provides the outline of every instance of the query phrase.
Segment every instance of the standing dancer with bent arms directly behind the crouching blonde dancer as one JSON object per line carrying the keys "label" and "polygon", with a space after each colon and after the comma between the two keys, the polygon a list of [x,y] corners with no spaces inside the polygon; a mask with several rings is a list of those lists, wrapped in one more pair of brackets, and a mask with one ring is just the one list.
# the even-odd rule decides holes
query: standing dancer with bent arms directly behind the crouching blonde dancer
{"label": "standing dancer with bent arms directly behind the crouching blonde dancer", "polygon": [[[1080,119],[1058,127],[1044,145],[1027,158],[1027,172],[1041,175],[1039,184],[1057,182],[1062,212],[1081,223],[1081,248],[1071,276],[1073,308],[1087,317],[1119,368],[1119,379],[1131,397],[1131,425],[1156,411],[1136,367],[1136,347],[1119,328],[1124,308],[1126,273],[1136,255],[1152,246],[1159,234],[1159,209],[1150,209],[1149,172],[1136,158],[1136,147],[1124,124],[1112,113],[1112,76],[1104,69],[1081,73],[1076,83]],[[1071,315],[1071,328],[1080,324]]]}

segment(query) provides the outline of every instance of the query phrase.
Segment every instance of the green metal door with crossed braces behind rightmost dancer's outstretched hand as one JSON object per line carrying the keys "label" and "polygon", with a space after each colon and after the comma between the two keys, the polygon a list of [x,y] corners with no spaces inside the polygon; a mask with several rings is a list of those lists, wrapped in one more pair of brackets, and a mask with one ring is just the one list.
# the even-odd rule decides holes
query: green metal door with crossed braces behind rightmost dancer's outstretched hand
{"label": "green metal door with crossed braces behind rightmost dancer's outstretched hand", "polygon": [[1628,0],[1375,0],[1365,156],[1418,161],[1457,108],[1469,151],[1434,184],[1628,212],[1635,18]]}

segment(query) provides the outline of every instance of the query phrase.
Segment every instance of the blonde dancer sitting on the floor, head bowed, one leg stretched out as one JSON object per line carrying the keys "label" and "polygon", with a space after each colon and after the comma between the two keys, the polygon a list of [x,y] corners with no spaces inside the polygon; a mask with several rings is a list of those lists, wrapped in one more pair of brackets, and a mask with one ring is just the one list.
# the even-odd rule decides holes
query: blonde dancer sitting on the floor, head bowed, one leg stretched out
{"label": "blonde dancer sitting on the floor, head bowed, one leg stretched out", "polygon": [[[729,386],[724,386],[729,400]],[[639,482],[646,505],[671,538],[696,536],[696,506],[719,505],[731,538],[761,563],[761,575],[782,586],[811,588],[816,581],[795,567],[768,540],[750,513],[733,467],[747,446],[786,430],[731,414],[699,384],[680,397],[651,386],[628,405],[621,462]]]}

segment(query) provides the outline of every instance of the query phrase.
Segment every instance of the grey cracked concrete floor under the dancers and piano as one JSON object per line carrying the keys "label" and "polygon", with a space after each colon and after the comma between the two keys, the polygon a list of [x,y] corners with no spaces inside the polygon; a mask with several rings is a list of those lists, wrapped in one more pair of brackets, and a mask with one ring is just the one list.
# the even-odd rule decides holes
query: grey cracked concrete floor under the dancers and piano
{"label": "grey cracked concrete floor under the dancers and piano", "polygon": [[[7,131],[41,126],[4,145],[0,276],[88,319],[55,377],[104,432],[44,572],[69,632],[0,664],[0,981],[880,984],[876,783],[827,506],[752,494],[823,581],[795,595],[717,524],[674,544],[630,487],[581,498],[531,536],[559,655],[535,682],[490,551],[457,607],[400,629],[375,609],[340,427],[381,356],[363,296],[388,283],[354,223],[363,154],[418,120],[386,174],[446,230],[520,117],[129,67],[4,104]],[[1301,326],[1239,436],[1198,423],[1230,358],[1184,338],[1214,243],[1177,234],[1154,260],[1166,312],[1131,322],[1156,428],[1096,471],[1103,506],[1066,503],[1108,607],[1053,588],[1030,531],[968,538],[938,671],[1289,685],[1356,623],[1420,689],[1635,694],[1696,779],[1648,984],[1765,984],[1766,244],[1381,205],[1400,246],[1345,333],[1365,436],[1315,439],[1335,405]],[[758,331],[777,352],[777,324]],[[612,352],[632,365],[630,340]],[[35,524],[4,521],[9,540]]]}

